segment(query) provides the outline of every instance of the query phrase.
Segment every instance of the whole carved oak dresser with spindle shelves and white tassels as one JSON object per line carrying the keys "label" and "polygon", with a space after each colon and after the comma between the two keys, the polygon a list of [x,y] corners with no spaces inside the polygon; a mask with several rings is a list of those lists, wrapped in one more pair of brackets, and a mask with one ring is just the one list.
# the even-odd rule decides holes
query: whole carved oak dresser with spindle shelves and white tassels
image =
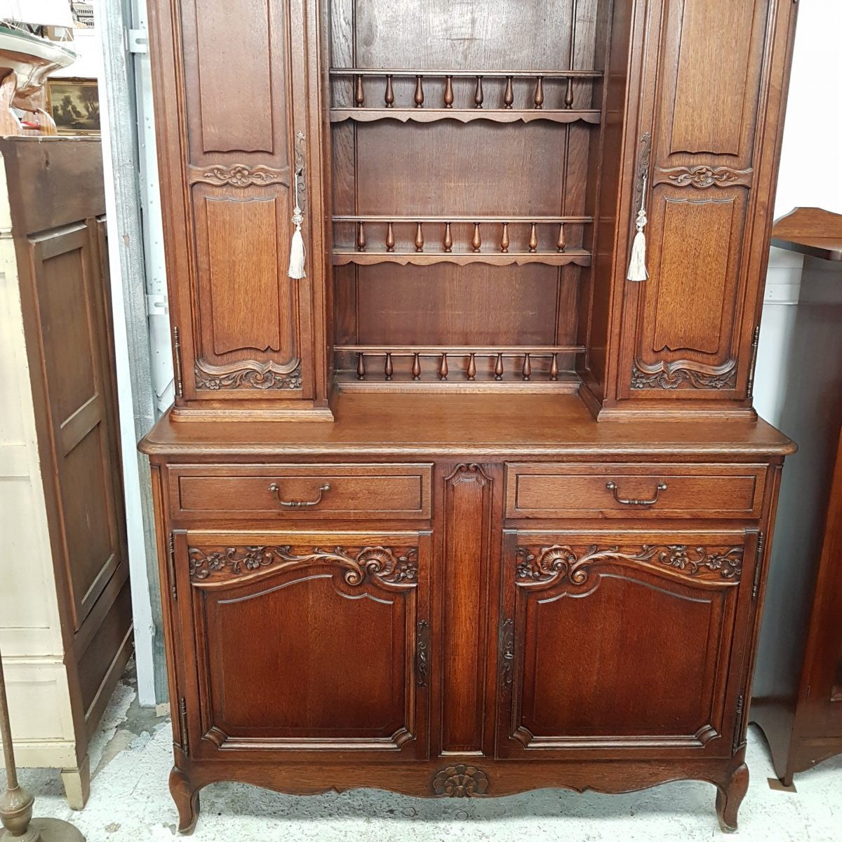
{"label": "whole carved oak dresser with spindle shelves and white tassels", "polygon": [[151,5],[180,829],[679,778],[735,828],[791,0]]}

